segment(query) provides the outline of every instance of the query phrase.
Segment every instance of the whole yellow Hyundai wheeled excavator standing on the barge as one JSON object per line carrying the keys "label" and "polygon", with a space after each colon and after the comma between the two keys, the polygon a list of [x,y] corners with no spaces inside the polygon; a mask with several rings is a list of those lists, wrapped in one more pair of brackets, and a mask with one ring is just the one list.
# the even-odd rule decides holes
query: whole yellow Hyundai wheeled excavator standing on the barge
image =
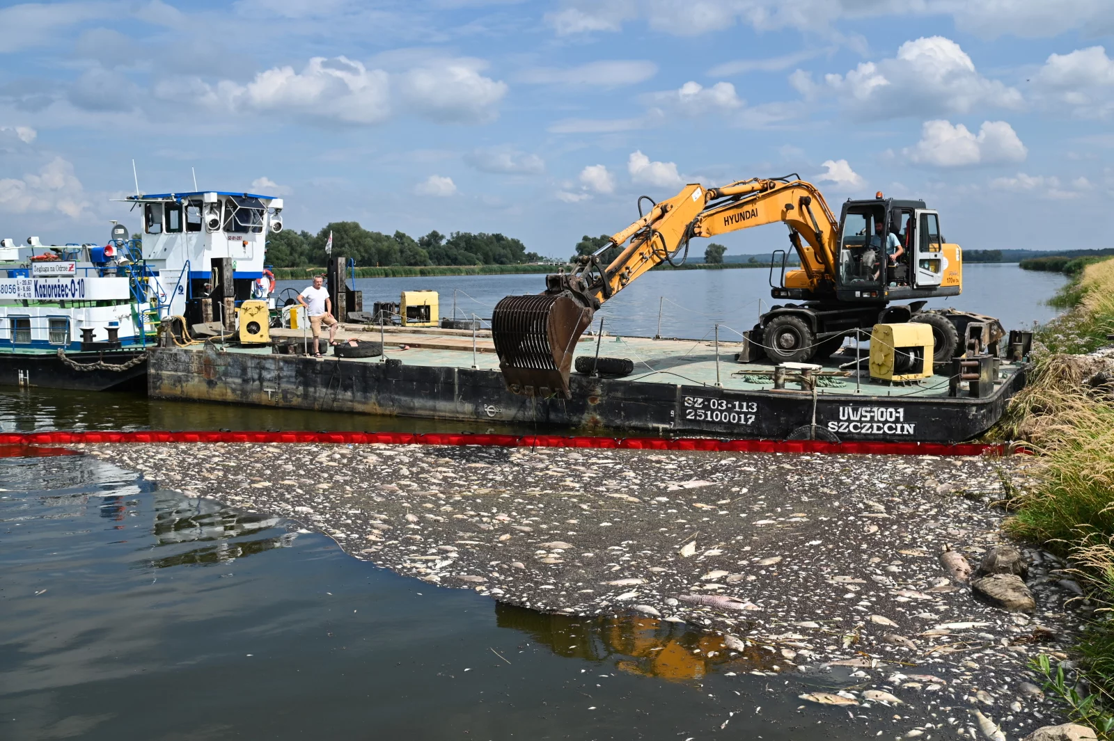
{"label": "whole yellow Hyundai wheeled excavator standing on the barge", "polygon": [[[646,214],[644,200],[649,201]],[[498,303],[491,335],[511,392],[567,397],[576,343],[605,302],[651,268],[674,265],[682,253],[683,260],[694,237],[775,221],[789,227],[800,267],[786,270],[786,250],[774,250],[771,295],[802,303],[774,305],[763,314],[745,333],[751,356],[744,360],[763,353],[774,363],[822,359],[857,328],[921,322],[932,327],[934,362],[946,363],[965,349],[959,338],[977,316],[922,310],[927,299],[958,296],[962,287],[962,250],[945,243],[939,215],[922,200],[885,198],[879,191],[873,199],[844,201],[837,220],[817,187],[794,174],[720,188],[690,184],[656,204],[643,196],[638,213],[595,254],[546,276],[545,293]],[[618,255],[605,265],[600,256],[614,249]],[[913,300],[890,304],[900,299]]]}

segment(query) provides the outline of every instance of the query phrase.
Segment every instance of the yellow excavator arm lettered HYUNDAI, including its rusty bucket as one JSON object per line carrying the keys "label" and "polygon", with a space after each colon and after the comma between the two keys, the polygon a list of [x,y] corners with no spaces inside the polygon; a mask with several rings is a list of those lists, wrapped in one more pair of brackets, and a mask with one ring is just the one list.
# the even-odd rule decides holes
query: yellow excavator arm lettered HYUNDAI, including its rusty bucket
{"label": "yellow excavator arm lettered HYUNDAI, including its rusty bucket", "polygon": [[[811,184],[755,178],[706,190],[687,185],[673,198],[653,204],[595,254],[579,256],[570,271],[546,276],[544,294],[507,296],[496,305],[491,337],[508,388],[527,396],[567,397],[576,343],[605,302],[655,266],[672,263],[692,237],[774,221],[790,228],[807,287],[815,289],[836,274],[838,223]],[[613,248],[619,254],[604,265],[600,256]]]}

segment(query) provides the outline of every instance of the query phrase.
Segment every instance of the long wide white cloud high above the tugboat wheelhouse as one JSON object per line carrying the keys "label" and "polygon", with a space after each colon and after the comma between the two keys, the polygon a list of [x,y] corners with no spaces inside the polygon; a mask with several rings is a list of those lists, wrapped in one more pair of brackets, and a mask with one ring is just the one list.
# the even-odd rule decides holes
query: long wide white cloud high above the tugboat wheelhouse
{"label": "long wide white cloud high above the tugboat wheelhouse", "polygon": [[432,60],[399,75],[368,69],[346,57],[314,57],[302,71],[273,67],[241,85],[201,78],[169,78],[155,86],[164,100],[189,100],[221,111],[293,112],[345,124],[379,124],[397,110],[447,122],[496,117],[507,85],[480,75],[475,59]]}

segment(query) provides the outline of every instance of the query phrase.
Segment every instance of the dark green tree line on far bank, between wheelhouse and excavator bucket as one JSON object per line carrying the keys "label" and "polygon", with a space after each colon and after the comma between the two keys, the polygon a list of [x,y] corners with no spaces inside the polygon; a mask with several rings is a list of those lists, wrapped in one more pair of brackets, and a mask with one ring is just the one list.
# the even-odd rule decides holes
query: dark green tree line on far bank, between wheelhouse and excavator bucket
{"label": "dark green tree line on far bank, between wheelhouse and excavator bucket", "polygon": [[317,234],[293,229],[267,236],[267,263],[274,267],[315,267],[325,264],[325,243],[333,235],[333,257],[351,257],[364,267],[391,265],[517,265],[541,256],[501,234],[430,231],[414,239],[402,231],[369,231],[356,221],[333,221]]}

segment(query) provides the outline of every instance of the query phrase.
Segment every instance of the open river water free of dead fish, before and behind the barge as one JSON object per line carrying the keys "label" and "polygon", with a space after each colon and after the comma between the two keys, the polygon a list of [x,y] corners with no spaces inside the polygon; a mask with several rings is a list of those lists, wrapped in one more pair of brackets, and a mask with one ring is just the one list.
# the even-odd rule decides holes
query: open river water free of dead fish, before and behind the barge
{"label": "open river water free of dead fish, before and behind the barge", "polygon": [[[968,266],[957,306],[1045,322],[1061,285]],[[614,332],[700,337],[753,323],[765,271],[652,273]],[[361,280],[430,287],[481,316],[540,276]],[[768,300],[768,299],[766,299]],[[446,304],[451,312],[451,304]],[[681,308],[683,307],[683,308]],[[620,310],[622,309],[622,310]],[[749,314],[747,314],[749,313]],[[467,424],[0,391],[0,429],[467,429]],[[797,699],[831,675],[729,661],[683,624],[506,607],[346,556],[287,521],[189,500],[87,456],[2,457],[0,739],[834,739],[893,735],[892,710]],[[758,673],[755,673],[758,672]],[[802,705],[808,704],[805,708]],[[851,718],[851,715],[857,715]],[[908,727],[905,721],[902,728]]]}

